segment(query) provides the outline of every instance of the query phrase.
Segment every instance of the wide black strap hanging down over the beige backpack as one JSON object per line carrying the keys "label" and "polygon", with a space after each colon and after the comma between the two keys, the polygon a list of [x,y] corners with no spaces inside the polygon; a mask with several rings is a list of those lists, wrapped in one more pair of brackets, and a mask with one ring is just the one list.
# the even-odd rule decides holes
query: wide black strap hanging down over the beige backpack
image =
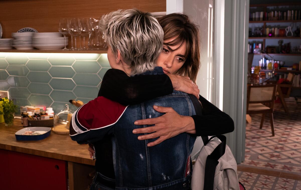
{"label": "wide black strap hanging down over the beige backpack", "polygon": [[[205,179],[204,179],[204,189],[213,189],[214,175],[217,164],[219,164],[219,158],[225,154],[226,150],[226,137],[224,135],[212,136],[208,142],[214,137],[219,138],[222,142],[213,150],[213,152],[207,156],[205,165]],[[207,143],[206,143],[207,144]],[[204,143],[204,146],[206,146]]]}

